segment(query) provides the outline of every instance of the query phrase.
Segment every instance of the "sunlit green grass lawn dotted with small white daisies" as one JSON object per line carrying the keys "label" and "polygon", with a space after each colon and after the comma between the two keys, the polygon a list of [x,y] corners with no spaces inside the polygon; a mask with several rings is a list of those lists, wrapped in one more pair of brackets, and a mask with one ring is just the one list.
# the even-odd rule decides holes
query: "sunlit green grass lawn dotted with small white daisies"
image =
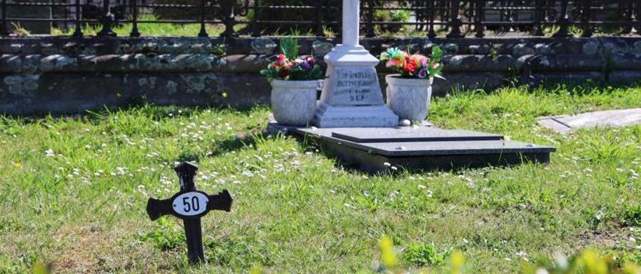
{"label": "sunlit green grass lawn dotted with small white daisies", "polygon": [[[0,118],[0,273],[53,263],[72,272],[373,271],[389,236],[402,268],[468,273],[553,264],[588,248],[641,262],[641,126],[563,136],[542,115],[641,106],[641,86],[506,88],[433,102],[440,127],[558,147],[549,165],[366,175],[283,136],[269,109],[142,106],[82,117]],[[253,138],[249,138],[253,136]],[[231,213],[203,218],[209,264],[188,266],[176,218],[151,222],[147,198],[197,185],[229,189]]]}

